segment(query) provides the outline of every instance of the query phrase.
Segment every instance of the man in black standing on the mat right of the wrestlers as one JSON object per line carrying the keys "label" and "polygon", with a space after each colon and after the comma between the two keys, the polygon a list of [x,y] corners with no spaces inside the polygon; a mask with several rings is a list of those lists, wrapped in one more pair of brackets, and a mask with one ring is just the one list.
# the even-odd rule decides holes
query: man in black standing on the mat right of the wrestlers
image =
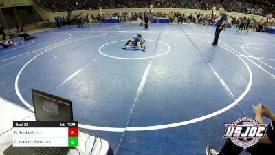
{"label": "man in black standing on the mat right of the wrestlers", "polygon": [[225,26],[227,16],[224,13],[224,8],[219,8],[219,17],[217,21],[217,28],[215,32],[215,39],[212,43],[212,45],[217,45],[218,44],[218,39],[219,39],[219,33],[221,33],[221,30],[223,30],[223,26]]}

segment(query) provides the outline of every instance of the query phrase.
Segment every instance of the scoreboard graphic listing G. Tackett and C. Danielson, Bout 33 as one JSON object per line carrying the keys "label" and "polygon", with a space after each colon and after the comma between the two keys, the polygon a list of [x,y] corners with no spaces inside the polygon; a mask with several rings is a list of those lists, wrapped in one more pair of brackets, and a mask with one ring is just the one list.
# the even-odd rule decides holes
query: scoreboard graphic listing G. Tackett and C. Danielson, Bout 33
{"label": "scoreboard graphic listing G. Tackett and C. Danielson, Bout 33", "polygon": [[14,147],[77,147],[78,121],[13,121]]}

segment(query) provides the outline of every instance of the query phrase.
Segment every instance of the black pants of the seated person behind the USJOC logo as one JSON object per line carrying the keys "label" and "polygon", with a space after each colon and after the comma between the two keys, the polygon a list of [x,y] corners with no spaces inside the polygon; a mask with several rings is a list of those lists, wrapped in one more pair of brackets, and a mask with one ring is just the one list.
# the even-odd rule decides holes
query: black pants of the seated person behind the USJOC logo
{"label": "black pants of the seated person behind the USJOC logo", "polygon": [[[251,155],[271,155],[275,152],[275,144],[263,144],[257,143],[253,147],[246,149]],[[219,152],[219,155],[239,155],[243,151],[243,148],[238,147],[228,139],[225,145]]]}

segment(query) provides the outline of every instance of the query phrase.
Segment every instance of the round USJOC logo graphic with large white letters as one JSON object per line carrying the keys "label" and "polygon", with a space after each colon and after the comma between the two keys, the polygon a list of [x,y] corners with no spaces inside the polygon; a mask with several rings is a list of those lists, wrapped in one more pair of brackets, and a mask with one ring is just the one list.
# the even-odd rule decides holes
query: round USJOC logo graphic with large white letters
{"label": "round USJOC logo graphic with large white letters", "polygon": [[223,138],[230,138],[234,145],[248,149],[256,145],[265,136],[267,124],[259,124],[252,118],[242,117],[231,124],[225,124]]}

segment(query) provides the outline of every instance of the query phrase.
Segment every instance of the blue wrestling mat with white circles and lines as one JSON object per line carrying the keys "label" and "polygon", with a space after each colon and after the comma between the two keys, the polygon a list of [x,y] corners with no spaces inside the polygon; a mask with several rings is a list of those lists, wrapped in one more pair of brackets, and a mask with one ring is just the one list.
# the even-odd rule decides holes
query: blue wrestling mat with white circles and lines
{"label": "blue wrestling mat with white circles and lines", "polygon": [[[122,49],[137,33],[146,52]],[[254,117],[252,105],[275,111],[274,34],[227,28],[216,47],[214,27],[198,25],[104,23],[36,35],[0,49],[0,96],[30,109],[31,88],[72,100],[80,130],[118,155],[204,155],[225,142],[225,123]]]}

